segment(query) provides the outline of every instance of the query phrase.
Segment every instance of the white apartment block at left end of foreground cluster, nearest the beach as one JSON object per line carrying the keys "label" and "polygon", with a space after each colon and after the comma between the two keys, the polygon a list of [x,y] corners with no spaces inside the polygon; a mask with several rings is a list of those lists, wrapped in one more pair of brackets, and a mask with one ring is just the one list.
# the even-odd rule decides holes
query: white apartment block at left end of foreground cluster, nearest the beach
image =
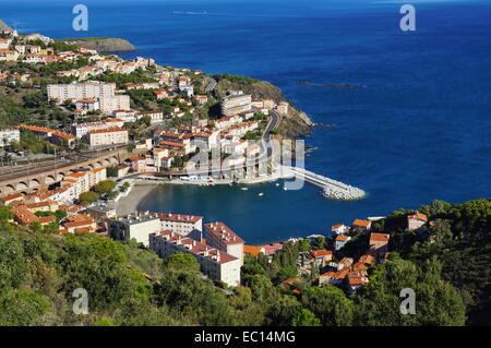
{"label": "white apartment block at left end of foreground cluster, nearest the beach", "polygon": [[156,215],[133,214],[112,219],[109,236],[116,240],[134,239],[148,247],[148,236],[160,231],[160,219]]}

